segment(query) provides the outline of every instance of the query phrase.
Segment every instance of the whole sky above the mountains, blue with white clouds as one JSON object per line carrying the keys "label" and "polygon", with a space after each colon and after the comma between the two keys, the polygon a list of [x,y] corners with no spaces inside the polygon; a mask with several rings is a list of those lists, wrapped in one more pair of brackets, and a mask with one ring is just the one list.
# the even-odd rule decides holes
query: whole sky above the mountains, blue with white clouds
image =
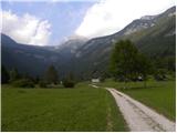
{"label": "whole sky above the mountains, blue with white clouds", "polygon": [[175,0],[2,0],[0,29],[19,43],[56,45],[71,37],[115,33],[173,6]]}

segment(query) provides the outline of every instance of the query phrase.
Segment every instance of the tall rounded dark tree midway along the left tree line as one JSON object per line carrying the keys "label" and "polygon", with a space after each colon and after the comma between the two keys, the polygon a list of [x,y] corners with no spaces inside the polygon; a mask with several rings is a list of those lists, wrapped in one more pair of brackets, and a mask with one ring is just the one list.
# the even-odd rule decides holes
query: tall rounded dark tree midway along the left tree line
{"label": "tall rounded dark tree midway along the left tree line", "polygon": [[44,75],[44,80],[49,84],[52,84],[52,83],[56,84],[58,83],[58,80],[59,80],[58,71],[53,65],[50,65],[48,68],[45,75]]}

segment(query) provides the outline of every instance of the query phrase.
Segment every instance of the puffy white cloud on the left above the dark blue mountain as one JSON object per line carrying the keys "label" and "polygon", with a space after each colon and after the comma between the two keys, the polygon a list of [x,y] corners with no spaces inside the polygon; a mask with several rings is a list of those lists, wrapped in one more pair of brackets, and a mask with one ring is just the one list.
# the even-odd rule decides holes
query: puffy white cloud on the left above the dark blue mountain
{"label": "puffy white cloud on the left above the dark blue mountain", "polygon": [[2,33],[19,43],[46,45],[51,35],[51,24],[46,20],[29,13],[18,17],[11,11],[2,11]]}

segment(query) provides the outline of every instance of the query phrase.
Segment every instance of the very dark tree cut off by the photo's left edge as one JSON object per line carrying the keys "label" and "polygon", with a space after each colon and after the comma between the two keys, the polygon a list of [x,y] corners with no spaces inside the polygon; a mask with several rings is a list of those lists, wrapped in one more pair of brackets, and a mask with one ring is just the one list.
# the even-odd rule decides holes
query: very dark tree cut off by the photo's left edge
{"label": "very dark tree cut off by the photo's left edge", "polygon": [[1,83],[9,83],[10,76],[9,73],[7,71],[7,69],[4,68],[4,65],[1,66]]}

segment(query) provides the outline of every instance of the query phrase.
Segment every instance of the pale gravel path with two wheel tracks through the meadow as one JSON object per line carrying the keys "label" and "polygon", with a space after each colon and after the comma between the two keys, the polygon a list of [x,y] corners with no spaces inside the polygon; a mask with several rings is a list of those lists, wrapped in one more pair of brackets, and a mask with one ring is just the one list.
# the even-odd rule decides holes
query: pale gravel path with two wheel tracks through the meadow
{"label": "pale gravel path with two wheel tracks through the meadow", "polygon": [[105,89],[114,96],[131,131],[175,132],[175,123],[164,115],[115,89]]}

